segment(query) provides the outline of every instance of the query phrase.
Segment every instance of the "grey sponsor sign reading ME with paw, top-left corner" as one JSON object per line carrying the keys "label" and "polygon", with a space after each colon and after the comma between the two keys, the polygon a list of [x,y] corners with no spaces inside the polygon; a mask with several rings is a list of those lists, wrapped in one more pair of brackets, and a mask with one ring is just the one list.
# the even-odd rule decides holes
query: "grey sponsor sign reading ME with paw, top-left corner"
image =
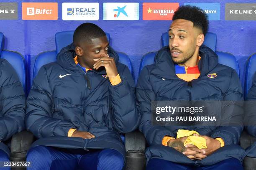
{"label": "grey sponsor sign reading ME with paw, top-left corner", "polygon": [[17,20],[17,3],[0,3],[0,20]]}

